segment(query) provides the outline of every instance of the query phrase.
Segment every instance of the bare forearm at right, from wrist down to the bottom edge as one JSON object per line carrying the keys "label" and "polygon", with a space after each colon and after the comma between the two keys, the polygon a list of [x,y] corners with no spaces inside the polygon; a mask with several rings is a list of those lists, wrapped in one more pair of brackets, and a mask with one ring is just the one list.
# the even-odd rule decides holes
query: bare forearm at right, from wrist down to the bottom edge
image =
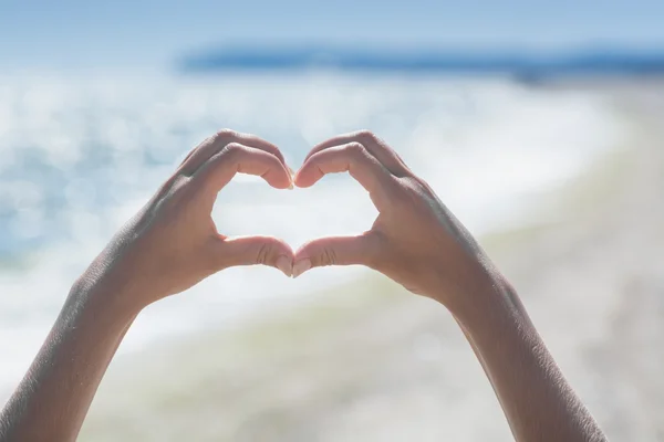
{"label": "bare forearm at right, from wrist down to the bottom edge", "polygon": [[518,441],[604,441],[571,389],[515,291],[496,278],[453,312]]}

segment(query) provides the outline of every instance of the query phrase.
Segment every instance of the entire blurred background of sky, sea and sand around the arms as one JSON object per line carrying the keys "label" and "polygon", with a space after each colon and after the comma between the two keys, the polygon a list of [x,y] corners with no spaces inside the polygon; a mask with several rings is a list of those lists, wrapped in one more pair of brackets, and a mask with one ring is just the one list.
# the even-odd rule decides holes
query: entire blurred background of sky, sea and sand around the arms
{"label": "entire blurred background of sky, sea and sand around the arms", "polygon": [[[0,0],[0,403],[72,282],[204,138],[297,169],[371,129],[480,239],[614,441],[664,441],[664,3]],[[225,234],[376,214],[238,176]],[[444,307],[360,267],[232,269],[143,312],[81,441],[507,441]]]}

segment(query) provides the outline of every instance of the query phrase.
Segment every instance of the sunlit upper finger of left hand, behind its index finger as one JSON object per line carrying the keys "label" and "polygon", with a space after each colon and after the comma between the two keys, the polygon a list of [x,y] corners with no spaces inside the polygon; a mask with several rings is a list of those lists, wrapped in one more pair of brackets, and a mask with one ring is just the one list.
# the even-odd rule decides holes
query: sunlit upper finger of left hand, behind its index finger
{"label": "sunlit upper finger of left hand, behind its index finger", "polygon": [[191,176],[196,173],[196,171],[203,167],[207,160],[220,152],[231,143],[239,143],[241,145],[272,154],[284,167],[288,167],[281,150],[279,150],[279,148],[273,144],[268,143],[255,135],[240,134],[235,130],[224,129],[207,138],[200,145],[198,145],[198,147],[191,150],[187,158],[185,158],[183,161],[178,171],[185,176]]}

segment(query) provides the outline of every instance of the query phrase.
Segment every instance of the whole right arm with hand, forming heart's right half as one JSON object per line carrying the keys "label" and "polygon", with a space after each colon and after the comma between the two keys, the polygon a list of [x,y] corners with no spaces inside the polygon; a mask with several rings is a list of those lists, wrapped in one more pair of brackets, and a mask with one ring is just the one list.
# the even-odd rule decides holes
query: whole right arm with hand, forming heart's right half
{"label": "whole right arm with hand, forming heart's right half", "polygon": [[560,372],[517,293],[461,223],[385,143],[367,131],[314,147],[298,187],[349,171],[378,217],[357,236],[323,238],[295,252],[293,275],[361,264],[446,306],[487,373],[518,441],[605,441]]}

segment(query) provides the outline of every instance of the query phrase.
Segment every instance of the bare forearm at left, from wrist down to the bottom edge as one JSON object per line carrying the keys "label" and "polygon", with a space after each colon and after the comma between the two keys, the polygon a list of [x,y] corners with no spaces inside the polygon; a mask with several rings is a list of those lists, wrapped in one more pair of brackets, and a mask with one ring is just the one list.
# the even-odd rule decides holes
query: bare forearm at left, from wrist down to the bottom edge
{"label": "bare forearm at left, from wrist down to the bottom edge", "polygon": [[0,415],[0,441],[73,441],[135,313],[117,293],[72,288],[49,337]]}

